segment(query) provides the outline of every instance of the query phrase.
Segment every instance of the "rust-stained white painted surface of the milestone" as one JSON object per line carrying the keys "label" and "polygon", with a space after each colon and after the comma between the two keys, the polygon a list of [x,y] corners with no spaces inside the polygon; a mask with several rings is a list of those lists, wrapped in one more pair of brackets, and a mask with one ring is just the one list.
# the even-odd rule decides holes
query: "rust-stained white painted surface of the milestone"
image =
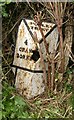
{"label": "rust-stained white painted surface of the milestone", "polygon": [[[38,29],[38,26],[35,25],[33,20],[26,20],[32,33],[36,32],[38,40],[42,38],[41,33]],[[43,23],[42,29],[44,35],[54,26],[52,23]],[[49,45],[49,52],[53,52],[56,49],[56,43],[58,41],[57,29],[55,29],[47,38],[47,43]],[[46,51],[44,43],[40,44],[43,57],[46,59]],[[31,59],[34,50],[36,50],[36,44],[34,43],[24,21],[21,21],[21,24],[18,29],[16,48],[14,54],[13,65],[28,68],[31,70],[42,70],[41,58],[38,58],[36,61]],[[46,68],[48,68],[48,64]],[[24,71],[21,69],[17,70],[16,75],[16,88],[19,90],[19,93],[23,96],[26,96],[28,99],[35,97],[44,92],[45,85],[43,79],[43,73],[32,73]]]}

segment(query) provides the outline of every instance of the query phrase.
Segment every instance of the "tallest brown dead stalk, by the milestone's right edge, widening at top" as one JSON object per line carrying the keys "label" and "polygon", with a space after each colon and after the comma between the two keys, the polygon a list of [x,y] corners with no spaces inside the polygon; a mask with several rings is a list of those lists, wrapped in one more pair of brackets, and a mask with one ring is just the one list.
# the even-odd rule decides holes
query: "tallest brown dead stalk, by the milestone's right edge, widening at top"
{"label": "tallest brown dead stalk, by the milestone's right edge, widening at top", "polygon": [[[58,33],[60,36],[60,53],[61,53],[61,65],[60,72],[64,72],[64,50],[63,50],[63,36],[62,36],[62,23],[63,23],[63,11],[62,11],[62,3],[55,3],[55,21],[58,27]],[[59,8],[60,7],[60,8]],[[59,12],[60,9],[60,12]],[[53,11],[54,12],[54,11]]]}

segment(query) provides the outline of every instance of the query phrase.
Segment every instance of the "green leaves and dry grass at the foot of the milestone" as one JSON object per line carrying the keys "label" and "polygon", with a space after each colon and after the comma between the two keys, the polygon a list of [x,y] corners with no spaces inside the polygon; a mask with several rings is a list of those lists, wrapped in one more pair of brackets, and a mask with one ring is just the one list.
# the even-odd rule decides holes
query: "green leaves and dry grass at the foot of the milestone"
{"label": "green leaves and dry grass at the foot of the milestone", "polygon": [[[69,73],[68,73],[69,72]],[[48,97],[38,96],[32,100],[27,100],[20,96],[16,89],[2,82],[2,101],[0,106],[0,118],[8,120],[11,118],[72,118],[72,108],[74,109],[73,87],[70,82],[71,71],[68,71],[63,83],[63,90]],[[67,79],[67,81],[66,81]]]}

